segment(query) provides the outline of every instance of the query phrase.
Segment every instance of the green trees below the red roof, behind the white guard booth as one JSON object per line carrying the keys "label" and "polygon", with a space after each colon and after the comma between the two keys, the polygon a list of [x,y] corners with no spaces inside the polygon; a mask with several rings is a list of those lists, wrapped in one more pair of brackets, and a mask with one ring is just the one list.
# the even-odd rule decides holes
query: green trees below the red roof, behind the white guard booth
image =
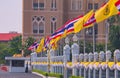
{"label": "green trees below the red roof, behind the white guard booth", "polygon": [[21,54],[24,49],[25,55],[29,55],[31,51],[28,47],[35,42],[35,39],[28,37],[25,45],[22,45],[22,36],[13,37],[8,43],[0,43],[0,63],[5,63],[5,56],[12,56],[13,54]]}

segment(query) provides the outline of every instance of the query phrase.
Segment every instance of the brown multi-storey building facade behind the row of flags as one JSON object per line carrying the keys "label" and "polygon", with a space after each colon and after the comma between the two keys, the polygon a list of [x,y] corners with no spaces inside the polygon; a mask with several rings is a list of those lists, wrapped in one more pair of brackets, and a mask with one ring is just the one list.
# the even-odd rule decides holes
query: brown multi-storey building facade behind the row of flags
{"label": "brown multi-storey building facade behind the row of flags", "polygon": [[[94,2],[93,2],[94,1]],[[23,0],[23,39],[51,35],[65,22],[97,10],[106,0]],[[105,22],[95,25],[96,42],[105,42]],[[82,30],[80,39],[92,41],[92,28]],[[85,34],[84,34],[85,33]]]}

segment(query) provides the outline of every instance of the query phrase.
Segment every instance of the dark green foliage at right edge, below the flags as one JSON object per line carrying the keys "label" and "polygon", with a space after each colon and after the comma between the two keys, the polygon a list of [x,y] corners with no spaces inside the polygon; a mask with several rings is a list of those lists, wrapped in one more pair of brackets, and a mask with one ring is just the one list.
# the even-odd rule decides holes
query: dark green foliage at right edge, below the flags
{"label": "dark green foliage at right edge, below the flags", "polygon": [[120,48],[120,26],[111,26],[109,40],[113,48]]}

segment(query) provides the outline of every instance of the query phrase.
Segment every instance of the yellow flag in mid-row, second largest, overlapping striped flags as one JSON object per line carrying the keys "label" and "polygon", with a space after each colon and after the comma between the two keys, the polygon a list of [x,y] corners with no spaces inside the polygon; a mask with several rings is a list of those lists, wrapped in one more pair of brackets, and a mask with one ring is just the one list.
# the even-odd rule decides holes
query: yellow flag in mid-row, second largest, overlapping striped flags
{"label": "yellow flag in mid-row, second largest, overlapping striped flags", "polygon": [[91,10],[81,19],[79,19],[76,23],[74,23],[74,33],[78,33],[83,29],[84,23],[88,21],[88,19],[92,16],[93,13],[93,10]]}

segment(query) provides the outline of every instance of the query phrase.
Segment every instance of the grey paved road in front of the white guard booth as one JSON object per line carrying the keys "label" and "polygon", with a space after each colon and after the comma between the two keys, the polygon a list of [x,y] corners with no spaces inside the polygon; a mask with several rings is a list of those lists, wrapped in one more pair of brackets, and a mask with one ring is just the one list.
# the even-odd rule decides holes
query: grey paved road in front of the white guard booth
{"label": "grey paved road in front of the white guard booth", "polygon": [[0,71],[0,78],[42,78],[32,73],[9,73]]}

